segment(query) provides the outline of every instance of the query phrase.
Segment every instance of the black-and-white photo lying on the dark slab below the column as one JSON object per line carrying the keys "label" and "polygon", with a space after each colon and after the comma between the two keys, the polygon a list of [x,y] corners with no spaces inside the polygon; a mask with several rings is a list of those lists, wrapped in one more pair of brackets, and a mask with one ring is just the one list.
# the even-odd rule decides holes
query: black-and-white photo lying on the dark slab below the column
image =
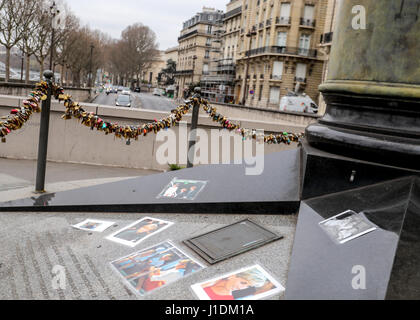
{"label": "black-and-white photo lying on the dark slab below the column", "polygon": [[334,242],[339,244],[346,243],[377,229],[363,213],[356,213],[352,210],[322,221],[319,225]]}

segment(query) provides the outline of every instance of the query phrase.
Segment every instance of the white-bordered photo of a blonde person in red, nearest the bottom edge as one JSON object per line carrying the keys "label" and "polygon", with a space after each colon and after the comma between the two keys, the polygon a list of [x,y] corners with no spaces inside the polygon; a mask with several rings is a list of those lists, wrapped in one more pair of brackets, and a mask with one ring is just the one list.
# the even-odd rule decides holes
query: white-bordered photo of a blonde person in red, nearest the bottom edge
{"label": "white-bordered photo of a blonde person in red, nearest the bottom edge", "polygon": [[284,291],[259,265],[195,284],[192,289],[201,300],[257,300]]}

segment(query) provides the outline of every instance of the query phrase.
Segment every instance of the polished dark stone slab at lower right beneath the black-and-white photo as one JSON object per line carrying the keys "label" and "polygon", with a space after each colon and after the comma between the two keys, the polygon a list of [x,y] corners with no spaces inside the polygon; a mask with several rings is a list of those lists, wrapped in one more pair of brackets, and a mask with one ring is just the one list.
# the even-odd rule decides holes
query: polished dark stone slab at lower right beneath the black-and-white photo
{"label": "polished dark stone slab at lower right beneath the black-and-white photo", "polygon": [[[419,178],[406,177],[303,201],[286,299],[420,299],[419,197]],[[319,223],[349,209],[378,229],[338,245]],[[364,290],[352,285],[355,266]]]}

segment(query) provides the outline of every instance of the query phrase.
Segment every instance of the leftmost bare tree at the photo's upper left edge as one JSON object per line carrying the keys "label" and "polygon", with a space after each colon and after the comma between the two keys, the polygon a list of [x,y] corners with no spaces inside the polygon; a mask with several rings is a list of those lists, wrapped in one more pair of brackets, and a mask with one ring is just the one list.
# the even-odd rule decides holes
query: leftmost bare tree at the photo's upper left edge
{"label": "leftmost bare tree at the photo's upper left edge", "polygon": [[27,32],[35,18],[36,6],[36,0],[0,2],[0,44],[6,48],[6,82],[10,80],[10,51]]}

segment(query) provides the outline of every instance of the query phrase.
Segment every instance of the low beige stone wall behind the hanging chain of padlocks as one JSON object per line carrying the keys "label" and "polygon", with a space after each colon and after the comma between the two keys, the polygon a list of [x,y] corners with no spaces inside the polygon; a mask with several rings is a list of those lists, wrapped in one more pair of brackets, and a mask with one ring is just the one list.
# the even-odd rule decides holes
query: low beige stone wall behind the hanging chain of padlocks
{"label": "low beige stone wall behind the hanging chain of padlocks", "polygon": [[[0,96],[0,116],[7,115],[12,107],[20,105],[23,97]],[[119,124],[136,125],[147,122],[153,122],[154,119],[162,119],[168,115],[166,112],[147,111],[140,109],[127,109],[99,106],[95,104],[83,104],[88,112],[98,114],[105,121],[118,122]],[[167,143],[166,140],[158,141],[155,134],[149,134],[147,137],[141,137],[139,141],[132,141],[127,145],[125,140],[115,138],[113,135],[106,136],[104,132],[92,131],[83,126],[76,119],[63,120],[64,107],[57,102],[53,103],[50,120],[50,135],[48,145],[48,159],[57,162],[84,163],[94,165],[117,166],[125,168],[142,168],[167,170],[167,163],[158,163],[156,153],[159,147]],[[235,120],[232,117],[232,120]],[[191,117],[185,116],[184,121],[191,122]],[[6,143],[0,143],[0,157],[11,159],[36,159],[39,137],[39,114],[34,114],[30,121],[18,131],[13,131],[7,136]],[[266,132],[303,132],[304,125],[286,124],[281,121],[262,122],[256,120],[236,120],[244,128],[264,129]],[[175,127],[177,156],[171,163],[185,165],[183,157],[185,155],[188,142],[186,134],[184,137],[185,126]],[[201,113],[199,119],[199,128],[204,129],[211,140],[211,130],[220,129],[209,119],[207,115]],[[184,129],[184,131],[181,131]],[[185,131],[186,132],[186,131]],[[227,135],[227,130],[216,131],[222,136]],[[220,140],[219,150],[223,148],[222,139]],[[232,139],[233,140],[233,139]],[[286,145],[264,145],[266,154],[278,152],[281,150],[296,148],[296,144]],[[255,145],[254,145],[255,147]],[[233,159],[233,148],[228,148]],[[208,150],[201,152],[208,153],[208,158],[212,159],[212,149],[209,144]],[[219,157],[220,162],[222,157]],[[210,161],[210,160],[209,160]]]}

